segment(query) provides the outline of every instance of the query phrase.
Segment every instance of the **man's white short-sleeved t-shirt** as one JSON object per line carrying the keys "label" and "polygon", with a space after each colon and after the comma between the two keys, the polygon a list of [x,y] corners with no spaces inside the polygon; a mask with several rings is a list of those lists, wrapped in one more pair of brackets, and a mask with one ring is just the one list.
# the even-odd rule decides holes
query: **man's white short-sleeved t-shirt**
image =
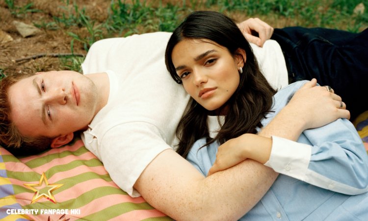
{"label": "man's white short-sleeved t-shirt", "polygon": [[[103,39],[92,45],[82,64],[84,74],[106,72],[110,82],[107,105],[83,132],[82,140],[104,163],[112,180],[131,196],[140,195],[133,185],[145,167],[177,144],[176,127],[189,100],[183,86],[166,70],[164,53],[170,36],[155,32]],[[268,55],[253,47],[257,55]],[[281,49],[279,53],[284,59]],[[258,59],[266,66],[272,60]],[[287,79],[281,69],[264,70],[270,70],[268,76]]]}

